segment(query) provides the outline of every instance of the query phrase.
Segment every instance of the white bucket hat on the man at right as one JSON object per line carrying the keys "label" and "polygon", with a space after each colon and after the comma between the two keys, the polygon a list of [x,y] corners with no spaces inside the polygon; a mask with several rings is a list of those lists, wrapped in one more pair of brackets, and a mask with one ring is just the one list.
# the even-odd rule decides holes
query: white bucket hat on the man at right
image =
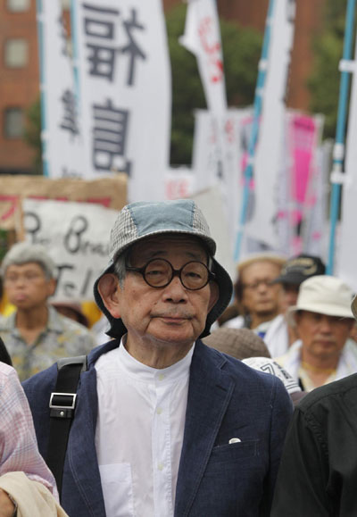
{"label": "white bucket hat on the man at right", "polygon": [[295,325],[297,311],[353,318],[352,299],[353,291],[343,280],[330,275],[316,275],[303,281],[296,305],[288,309],[286,318],[292,326]]}

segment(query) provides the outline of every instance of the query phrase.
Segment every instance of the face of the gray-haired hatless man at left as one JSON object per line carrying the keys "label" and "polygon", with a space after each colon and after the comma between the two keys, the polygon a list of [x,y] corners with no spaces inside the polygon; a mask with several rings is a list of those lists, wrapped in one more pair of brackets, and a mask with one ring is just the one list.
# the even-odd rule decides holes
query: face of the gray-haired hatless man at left
{"label": "face of the gray-haired hatless man at left", "polygon": [[9,302],[18,309],[29,310],[46,304],[54,294],[54,279],[46,279],[37,263],[12,264],[5,272],[4,288]]}

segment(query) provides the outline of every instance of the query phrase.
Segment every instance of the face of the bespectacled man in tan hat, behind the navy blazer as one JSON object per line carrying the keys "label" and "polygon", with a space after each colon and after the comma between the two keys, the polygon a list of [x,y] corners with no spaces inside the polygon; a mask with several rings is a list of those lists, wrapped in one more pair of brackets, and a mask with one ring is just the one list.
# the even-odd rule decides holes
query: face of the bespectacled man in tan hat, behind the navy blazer
{"label": "face of the bespectacled man in tan hat, behind the navy blazer", "polygon": [[241,273],[242,304],[251,315],[274,317],[278,314],[279,284],[271,284],[280,268],[275,263],[260,261],[249,264]]}

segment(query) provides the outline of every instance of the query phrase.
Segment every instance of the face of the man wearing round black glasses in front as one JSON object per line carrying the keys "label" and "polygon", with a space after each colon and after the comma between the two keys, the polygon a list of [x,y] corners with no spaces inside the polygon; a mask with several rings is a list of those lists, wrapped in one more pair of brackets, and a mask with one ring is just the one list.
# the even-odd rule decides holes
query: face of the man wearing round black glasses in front
{"label": "face of the man wearing round black glasses in front", "polygon": [[[195,239],[179,236],[147,238],[131,249],[130,266],[142,267],[149,260],[163,258],[175,270],[190,261],[207,264],[207,254]],[[178,276],[164,288],[149,286],[136,271],[127,271],[124,286],[117,287],[114,317],[128,329],[128,343],[143,340],[178,345],[192,344],[205,327],[207,313],[218,297],[218,287],[210,282],[199,290],[184,288]]]}

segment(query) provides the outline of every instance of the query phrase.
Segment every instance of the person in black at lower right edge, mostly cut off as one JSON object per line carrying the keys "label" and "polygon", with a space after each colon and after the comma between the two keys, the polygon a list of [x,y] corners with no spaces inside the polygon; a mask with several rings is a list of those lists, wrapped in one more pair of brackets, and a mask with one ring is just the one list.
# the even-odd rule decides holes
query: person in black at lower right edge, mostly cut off
{"label": "person in black at lower right edge, mostly cut off", "polygon": [[[357,317],[357,299],[352,304]],[[272,517],[357,515],[357,374],[314,389],[295,410]]]}

